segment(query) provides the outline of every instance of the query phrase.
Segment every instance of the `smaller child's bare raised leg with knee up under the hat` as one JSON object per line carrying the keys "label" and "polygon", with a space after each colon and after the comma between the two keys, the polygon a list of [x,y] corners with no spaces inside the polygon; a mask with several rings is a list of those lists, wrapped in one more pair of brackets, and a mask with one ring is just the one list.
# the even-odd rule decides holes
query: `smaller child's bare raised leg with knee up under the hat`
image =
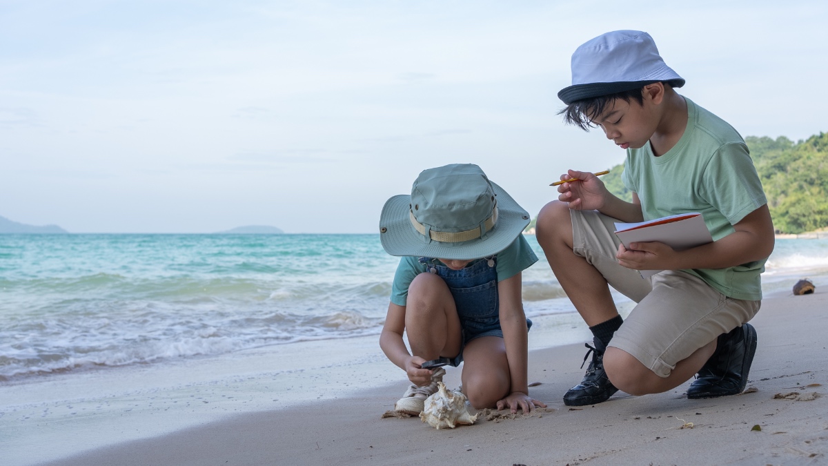
{"label": "smaller child's bare raised leg with knee up under the hat", "polygon": [[460,353],[460,318],[449,287],[436,274],[419,274],[408,288],[406,333],[412,356],[430,361]]}

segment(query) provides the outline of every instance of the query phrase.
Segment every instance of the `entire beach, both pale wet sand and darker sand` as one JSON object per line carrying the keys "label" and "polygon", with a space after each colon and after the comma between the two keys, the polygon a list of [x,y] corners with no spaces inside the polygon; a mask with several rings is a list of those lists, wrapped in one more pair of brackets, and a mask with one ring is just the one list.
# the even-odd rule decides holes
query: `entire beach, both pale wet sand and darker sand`
{"label": "entire beach, both pale wet sand and darker sand", "polygon": [[[826,363],[821,352],[813,351],[824,346],[821,336],[828,332],[828,314],[822,312],[826,304],[828,294],[819,288],[816,294],[765,299],[753,319],[759,349],[749,386],[758,392],[743,396],[686,400],[687,382],[663,394],[619,393],[607,403],[569,410],[561,396],[583,376],[583,342],[589,340],[583,325],[566,328],[580,323],[572,313],[570,322],[556,328],[538,319],[530,332],[529,381],[541,382],[531,394],[549,405],[547,412],[536,415],[481,420],[448,431],[433,430],[418,419],[381,420],[405,391],[407,380],[383,357],[374,337],[359,337],[323,362],[307,359],[317,342],[306,342],[290,353],[249,351],[220,361],[205,358],[115,376],[61,377],[46,384],[20,384],[14,390],[5,386],[0,388],[5,403],[12,395],[28,402],[0,416],[3,443],[15,445],[2,456],[5,464],[363,464],[368,459],[410,464],[444,455],[455,455],[460,464],[575,464],[588,458],[590,464],[641,464],[641,458],[674,464],[675,459],[644,454],[660,451],[651,450],[660,445],[691,454],[698,442],[712,442],[717,446],[711,451],[719,456],[684,464],[721,464],[724,458],[736,459],[732,442],[750,441],[756,451],[745,458],[762,453],[771,455],[763,464],[778,464],[773,454],[787,451],[778,446],[783,439],[800,442],[797,448],[807,447],[803,451],[819,446],[818,454],[828,454],[828,442],[800,441],[811,435],[816,442],[828,429],[825,416],[816,414],[828,412],[828,398],[773,400],[778,391],[790,392],[797,385],[828,386]],[[570,341],[550,347],[556,334],[569,334]],[[337,365],[343,361],[349,363]],[[272,371],[277,365],[281,369]],[[449,387],[458,386],[460,371],[450,370],[445,381]],[[822,386],[808,390],[826,393]],[[672,416],[697,427],[676,430]],[[782,419],[784,428],[773,427],[773,432],[787,434],[750,437],[742,429],[753,423],[748,428],[759,424],[764,431],[763,422]],[[584,441],[588,434],[608,436],[609,444]],[[720,439],[722,434],[725,439]],[[753,444],[760,437],[763,440]],[[773,440],[770,444],[768,438]],[[551,439],[554,444],[546,448]],[[421,451],[421,444],[429,445],[428,451]],[[609,451],[608,445],[614,448]],[[771,451],[768,445],[777,446]],[[589,448],[600,451],[587,452]]]}

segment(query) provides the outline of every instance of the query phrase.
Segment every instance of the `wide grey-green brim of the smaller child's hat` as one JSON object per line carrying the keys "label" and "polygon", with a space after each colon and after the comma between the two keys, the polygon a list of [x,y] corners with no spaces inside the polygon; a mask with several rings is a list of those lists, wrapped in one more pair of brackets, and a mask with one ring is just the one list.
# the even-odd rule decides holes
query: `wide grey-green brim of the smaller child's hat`
{"label": "wide grey-green brim of the smaller child's hat", "polygon": [[385,202],[379,219],[380,241],[390,255],[412,255],[436,259],[473,260],[508,248],[529,225],[529,214],[514,199],[492,182],[498,200],[498,222],[483,238],[459,243],[431,240],[414,229],[409,219],[411,196],[401,194]]}

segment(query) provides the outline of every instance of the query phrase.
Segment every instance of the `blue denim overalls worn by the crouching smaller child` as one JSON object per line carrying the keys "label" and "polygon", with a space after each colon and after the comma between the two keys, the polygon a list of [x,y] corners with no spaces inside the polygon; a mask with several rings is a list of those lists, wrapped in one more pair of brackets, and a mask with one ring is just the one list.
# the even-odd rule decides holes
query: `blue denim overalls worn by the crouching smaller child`
{"label": "blue denim overalls worn by the crouching smaller child", "polygon": [[[460,270],[452,270],[431,257],[421,257],[420,264],[426,265],[431,274],[437,274],[448,285],[455,299],[457,316],[463,332],[462,346],[465,347],[477,337],[501,337],[500,300],[498,299],[498,256],[478,260]],[[527,328],[532,321],[526,319]],[[463,362],[463,349],[451,362],[459,366]]]}

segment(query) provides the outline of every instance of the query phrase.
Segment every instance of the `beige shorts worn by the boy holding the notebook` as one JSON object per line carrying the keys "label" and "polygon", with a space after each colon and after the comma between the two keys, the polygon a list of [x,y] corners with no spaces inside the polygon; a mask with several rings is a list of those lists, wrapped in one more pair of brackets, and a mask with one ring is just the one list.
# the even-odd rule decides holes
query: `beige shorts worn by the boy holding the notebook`
{"label": "beige shorts worn by the boy holding the notebook", "polygon": [[598,211],[570,211],[576,255],[585,258],[619,293],[638,305],[624,319],[609,346],[633,355],[658,376],[722,333],[748,322],[761,301],[733,299],[695,275],[665,270],[641,278],[618,264],[621,243],[615,220]]}

